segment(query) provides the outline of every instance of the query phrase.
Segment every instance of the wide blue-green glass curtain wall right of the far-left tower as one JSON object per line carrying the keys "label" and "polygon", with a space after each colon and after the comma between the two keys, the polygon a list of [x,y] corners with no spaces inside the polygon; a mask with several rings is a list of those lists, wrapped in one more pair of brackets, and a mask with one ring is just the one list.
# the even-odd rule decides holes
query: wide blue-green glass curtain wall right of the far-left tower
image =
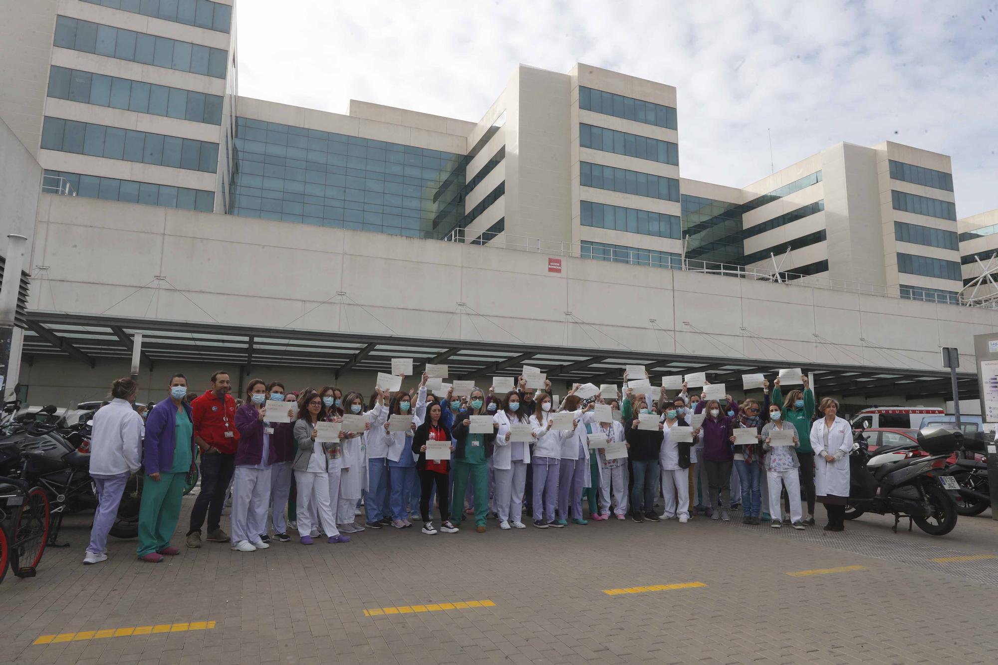
{"label": "wide blue-green glass curtain wall right of the far-left tower", "polygon": [[[463,155],[237,118],[229,213],[440,239],[464,216]],[[442,215],[441,215],[442,213]]]}

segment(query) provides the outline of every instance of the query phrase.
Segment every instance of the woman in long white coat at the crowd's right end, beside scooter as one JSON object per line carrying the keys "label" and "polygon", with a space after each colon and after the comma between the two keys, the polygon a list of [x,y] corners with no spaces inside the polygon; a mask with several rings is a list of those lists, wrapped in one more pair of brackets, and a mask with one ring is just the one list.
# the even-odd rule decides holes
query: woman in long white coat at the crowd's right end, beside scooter
{"label": "woman in long white coat at the crowd's right end, beside scooter", "polygon": [[814,448],[814,484],[817,500],[828,512],[825,531],[845,529],[845,503],[849,497],[849,453],[852,452],[852,427],[838,417],[838,402],[831,397],[821,400],[818,410],[824,417],[811,425],[810,441]]}

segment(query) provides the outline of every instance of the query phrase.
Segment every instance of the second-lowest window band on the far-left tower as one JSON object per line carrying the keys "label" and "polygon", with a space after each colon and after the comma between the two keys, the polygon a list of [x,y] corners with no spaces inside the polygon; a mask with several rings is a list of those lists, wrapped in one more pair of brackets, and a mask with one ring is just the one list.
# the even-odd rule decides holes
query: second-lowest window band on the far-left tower
{"label": "second-lowest window band on the far-left tower", "polygon": [[216,173],[219,144],[45,117],[42,148]]}

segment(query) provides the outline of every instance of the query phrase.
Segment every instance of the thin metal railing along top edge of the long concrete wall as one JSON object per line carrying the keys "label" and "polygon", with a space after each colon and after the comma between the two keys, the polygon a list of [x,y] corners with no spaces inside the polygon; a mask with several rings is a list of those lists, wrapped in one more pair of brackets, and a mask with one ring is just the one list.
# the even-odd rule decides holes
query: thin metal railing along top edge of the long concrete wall
{"label": "thin metal railing along top edge of the long concrete wall", "polygon": [[[521,252],[533,252],[535,254],[547,254],[553,257],[572,257],[593,259],[592,249],[585,248],[575,243],[562,241],[545,241],[540,238],[530,238],[527,236],[515,236],[505,232],[488,233],[469,231],[467,229],[455,229],[443,240],[450,243],[465,243],[468,245],[487,245],[488,247],[501,248],[506,250],[519,250]],[[965,307],[986,308],[998,310],[998,302],[991,303],[961,303],[953,296],[943,294],[933,294],[918,292],[911,294],[910,290],[905,290],[904,296],[898,287],[885,287],[882,285],[867,284],[864,282],[853,282],[850,280],[835,280],[829,277],[819,277],[813,275],[801,275],[786,271],[763,270],[761,268],[750,268],[735,264],[722,264],[711,261],[700,261],[697,259],[686,259],[681,257],[663,258],[655,254],[655,250],[641,250],[631,248],[614,248],[610,257],[599,255],[596,258],[611,261],[613,263],[632,264],[635,266],[655,266],[659,268],[671,268],[673,270],[683,270],[689,273],[705,273],[708,275],[722,275],[725,277],[740,278],[743,280],[755,280],[758,282],[773,282],[776,284],[792,284],[797,287],[810,287],[813,289],[828,289],[831,291],[842,291],[851,294],[861,294],[864,296],[884,296],[887,298],[903,298],[909,301],[924,303],[937,303],[941,305],[963,305]],[[670,254],[663,252],[662,254]]]}

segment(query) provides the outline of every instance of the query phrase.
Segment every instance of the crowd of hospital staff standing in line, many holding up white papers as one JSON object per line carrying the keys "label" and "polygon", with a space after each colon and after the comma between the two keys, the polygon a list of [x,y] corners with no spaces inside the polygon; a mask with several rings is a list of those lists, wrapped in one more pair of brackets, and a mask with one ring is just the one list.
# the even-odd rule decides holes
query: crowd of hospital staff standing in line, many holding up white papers
{"label": "crowd of hospital staff standing in line, many holding up white papers", "polygon": [[[665,388],[657,397],[636,393],[625,382],[615,397],[583,398],[575,384],[558,398],[550,381],[528,389],[522,376],[502,394],[474,387],[457,396],[453,387],[434,394],[428,378],[423,373],[408,391],[377,388],[367,399],[330,385],[294,392],[254,378],[237,398],[226,371],[212,374],[197,396],[178,373],[145,418],[133,407],[136,381],[114,381],[111,400],[93,417],[99,506],[84,563],[107,559],[126,482],[140,468],[138,556],[160,562],[179,554],[171,540],[199,456],[201,489],[186,531],[193,548],[204,534],[253,552],[290,541],[291,531],[305,545],[320,537],[346,543],[348,534],[413,521],[427,535],[456,533],[465,519],[484,532],[490,515],[502,530],[611,515],[730,521],[739,506],[743,523],[804,529],[815,525],[815,500],[826,508],[824,529],[843,529],[852,430],[830,397],[812,422],[806,376],[785,395],[778,379],[771,394],[763,381],[761,400],[741,402],[730,394],[708,399],[685,382],[672,397]],[[754,434],[736,433],[745,428]]]}

